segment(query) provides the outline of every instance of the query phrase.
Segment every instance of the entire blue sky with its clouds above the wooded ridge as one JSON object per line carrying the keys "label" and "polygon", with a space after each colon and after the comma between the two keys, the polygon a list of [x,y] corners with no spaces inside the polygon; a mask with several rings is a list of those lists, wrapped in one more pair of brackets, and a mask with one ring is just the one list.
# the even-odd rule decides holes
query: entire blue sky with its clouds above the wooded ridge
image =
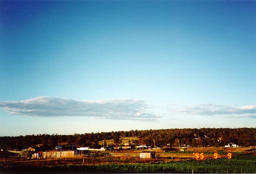
{"label": "entire blue sky with its clouds above the wooded ridge", "polygon": [[255,127],[255,1],[0,1],[0,136]]}

